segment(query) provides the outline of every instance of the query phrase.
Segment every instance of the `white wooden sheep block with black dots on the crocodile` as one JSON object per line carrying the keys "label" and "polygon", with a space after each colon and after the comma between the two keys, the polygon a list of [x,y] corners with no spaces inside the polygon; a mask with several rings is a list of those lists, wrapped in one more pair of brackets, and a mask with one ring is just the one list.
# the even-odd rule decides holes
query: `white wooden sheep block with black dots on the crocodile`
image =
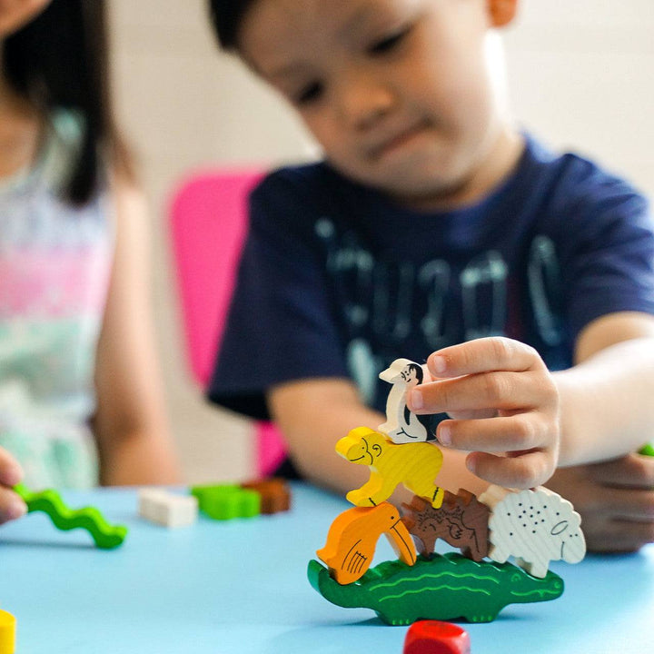
{"label": "white wooden sheep block with black dots on the crocodile", "polygon": [[557,493],[542,486],[520,491],[490,486],[478,499],[490,508],[491,560],[504,563],[514,556],[520,568],[543,578],[550,560],[584,558],[580,514]]}

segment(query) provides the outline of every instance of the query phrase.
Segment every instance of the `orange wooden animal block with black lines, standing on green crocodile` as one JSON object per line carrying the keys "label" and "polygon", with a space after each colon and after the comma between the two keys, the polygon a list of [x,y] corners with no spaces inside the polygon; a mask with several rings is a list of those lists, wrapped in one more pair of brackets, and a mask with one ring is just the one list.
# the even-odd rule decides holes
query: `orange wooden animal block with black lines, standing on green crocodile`
{"label": "orange wooden animal block with black lines, standing on green crocodile", "polygon": [[327,542],[316,554],[340,584],[362,577],[372,563],[377,540],[385,534],[395,553],[406,565],[416,560],[411,535],[400,520],[400,511],[390,502],[376,507],[345,510],[332,522]]}

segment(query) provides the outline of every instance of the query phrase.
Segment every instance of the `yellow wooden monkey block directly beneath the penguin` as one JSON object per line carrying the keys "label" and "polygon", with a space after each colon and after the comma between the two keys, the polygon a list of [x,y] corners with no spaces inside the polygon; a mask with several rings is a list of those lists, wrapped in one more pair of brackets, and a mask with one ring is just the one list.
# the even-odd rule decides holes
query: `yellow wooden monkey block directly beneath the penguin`
{"label": "yellow wooden monkey block directly beneath the penguin", "polygon": [[431,501],[438,509],[443,490],[434,480],[441,470],[442,452],[435,445],[417,442],[398,445],[379,431],[357,427],[336,443],[336,451],[348,461],[367,465],[370,479],[347,499],[355,506],[376,506],[391,497],[395,487],[403,483],[411,492]]}

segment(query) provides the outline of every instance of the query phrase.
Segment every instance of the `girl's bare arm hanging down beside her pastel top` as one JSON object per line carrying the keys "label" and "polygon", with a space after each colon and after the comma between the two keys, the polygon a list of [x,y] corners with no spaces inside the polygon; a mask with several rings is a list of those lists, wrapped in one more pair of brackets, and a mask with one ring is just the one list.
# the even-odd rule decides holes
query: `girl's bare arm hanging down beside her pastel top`
{"label": "girl's bare arm hanging down beside her pastel top", "polygon": [[163,406],[149,296],[144,196],[113,180],[114,265],[97,349],[93,427],[104,485],[180,481]]}

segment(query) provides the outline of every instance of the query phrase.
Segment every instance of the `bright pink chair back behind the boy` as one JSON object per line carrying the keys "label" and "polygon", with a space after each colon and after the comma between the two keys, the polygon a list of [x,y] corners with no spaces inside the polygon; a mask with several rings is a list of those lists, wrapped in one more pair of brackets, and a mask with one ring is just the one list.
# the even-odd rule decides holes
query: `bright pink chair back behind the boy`
{"label": "bright pink chair back behind the boy", "polygon": [[[193,175],[173,194],[170,218],[182,304],[185,351],[193,378],[206,388],[223,338],[236,269],[247,233],[247,196],[262,170]],[[256,422],[257,473],[283,461],[282,437]]]}

